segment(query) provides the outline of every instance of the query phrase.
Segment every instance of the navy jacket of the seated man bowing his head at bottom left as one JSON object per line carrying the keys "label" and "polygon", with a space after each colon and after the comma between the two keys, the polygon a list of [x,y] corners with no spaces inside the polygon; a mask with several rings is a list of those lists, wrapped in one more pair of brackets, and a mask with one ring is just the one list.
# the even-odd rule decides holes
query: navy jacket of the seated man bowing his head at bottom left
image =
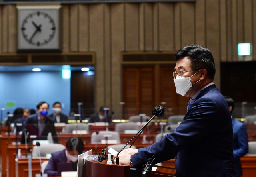
{"label": "navy jacket of the seated man bowing his head at bottom left", "polygon": [[57,173],[58,173],[57,164],[67,162],[65,151],[66,149],[63,151],[52,153],[52,157],[49,159],[49,162],[46,168],[44,169],[44,173],[47,173],[48,176],[57,176]]}

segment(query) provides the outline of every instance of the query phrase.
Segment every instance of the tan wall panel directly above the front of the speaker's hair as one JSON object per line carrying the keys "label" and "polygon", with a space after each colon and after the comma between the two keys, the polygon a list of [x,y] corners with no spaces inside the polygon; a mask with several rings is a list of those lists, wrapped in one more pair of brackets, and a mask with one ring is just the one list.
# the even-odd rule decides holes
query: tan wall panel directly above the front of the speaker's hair
{"label": "tan wall panel directly above the front of the speaker's hair", "polygon": [[[182,47],[194,44],[194,3],[181,3]],[[189,12],[189,13],[183,13]]]}

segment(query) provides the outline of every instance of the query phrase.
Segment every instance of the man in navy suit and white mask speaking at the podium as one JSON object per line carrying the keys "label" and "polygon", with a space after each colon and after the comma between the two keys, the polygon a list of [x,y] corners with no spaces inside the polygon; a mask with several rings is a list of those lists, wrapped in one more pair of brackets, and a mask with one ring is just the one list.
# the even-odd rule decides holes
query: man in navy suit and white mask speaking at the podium
{"label": "man in navy suit and white mask speaking at the podium", "polygon": [[236,177],[232,120],[226,100],[213,83],[212,54],[190,45],[180,49],[175,58],[176,92],[189,98],[183,121],[149,147],[124,150],[119,154],[120,164],[140,167],[156,153],[154,164],[176,159],[179,177]]}

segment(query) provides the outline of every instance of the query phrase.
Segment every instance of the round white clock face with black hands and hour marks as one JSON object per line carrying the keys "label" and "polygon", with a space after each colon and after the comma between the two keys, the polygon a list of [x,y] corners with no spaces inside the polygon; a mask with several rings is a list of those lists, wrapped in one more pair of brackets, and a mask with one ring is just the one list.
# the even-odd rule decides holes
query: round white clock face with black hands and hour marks
{"label": "round white clock face with black hands and hour marks", "polygon": [[56,33],[56,23],[46,12],[34,11],[28,14],[20,27],[22,37],[30,45],[43,46],[52,41]]}

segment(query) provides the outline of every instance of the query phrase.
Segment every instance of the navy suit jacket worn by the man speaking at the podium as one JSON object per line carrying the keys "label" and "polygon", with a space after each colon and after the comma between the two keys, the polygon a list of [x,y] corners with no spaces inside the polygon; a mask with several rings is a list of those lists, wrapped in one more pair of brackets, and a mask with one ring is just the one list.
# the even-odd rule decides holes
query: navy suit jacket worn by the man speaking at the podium
{"label": "navy suit jacket worn by the man speaking at the podium", "polygon": [[134,166],[174,159],[179,177],[236,177],[232,120],[228,104],[215,85],[206,87],[182,123],[155,144],[131,156]]}

